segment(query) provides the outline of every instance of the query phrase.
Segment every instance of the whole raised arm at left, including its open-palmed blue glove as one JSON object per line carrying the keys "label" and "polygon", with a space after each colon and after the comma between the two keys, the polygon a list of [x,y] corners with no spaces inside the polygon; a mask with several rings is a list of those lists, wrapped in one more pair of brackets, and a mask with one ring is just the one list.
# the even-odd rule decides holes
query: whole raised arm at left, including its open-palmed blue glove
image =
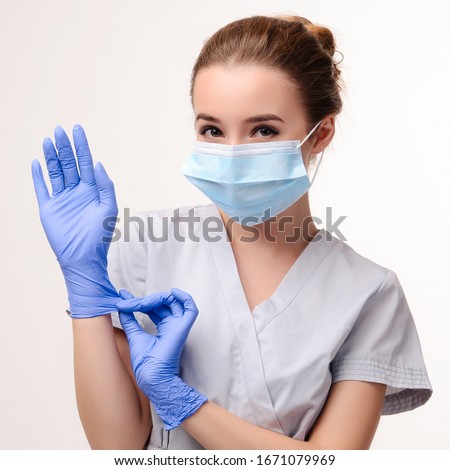
{"label": "whole raised arm at left, including its open-palmed blue glove", "polygon": [[[75,385],[80,418],[94,449],[142,449],[151,428],[149,402],[136,386],[124,333],[111,312],[122,300],[107,272],[118,213],[114,184],[94,167],[86,134],[60,126],[43,151],[50,196],[40,163],[32,163],[39,216],[67,287],[73,324]],[[76,158],[75,158],[76,154]]]}

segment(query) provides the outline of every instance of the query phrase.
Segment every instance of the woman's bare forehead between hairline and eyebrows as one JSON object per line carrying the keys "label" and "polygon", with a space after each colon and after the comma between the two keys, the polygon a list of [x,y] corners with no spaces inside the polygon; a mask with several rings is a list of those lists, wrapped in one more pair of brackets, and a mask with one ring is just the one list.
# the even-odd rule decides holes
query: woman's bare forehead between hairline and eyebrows
{"label": "woman's bare forehead between hairline and eyebrows", "polygon": [[260,65],[202,69],[193,88],[196,113],[214,116],[301,113],[294,83],[284,72]]}

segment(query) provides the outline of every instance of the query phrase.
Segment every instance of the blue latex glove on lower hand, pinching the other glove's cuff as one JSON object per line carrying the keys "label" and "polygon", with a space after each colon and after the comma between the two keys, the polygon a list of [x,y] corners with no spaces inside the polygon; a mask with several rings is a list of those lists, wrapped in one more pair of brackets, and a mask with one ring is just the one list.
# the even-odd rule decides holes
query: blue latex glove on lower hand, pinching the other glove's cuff
{"label": "blue latex glove on lower hand, pinching the other glove's cuff", "polygon": [[[178,377],[180,357],[198,315],[192,297],[180,289],[133,297],[117,303],[120,323],[128,338],[136,382],[153,404],[166,431],[179,426],[207,401],[207,397]],[[124,313],[128,312],[128,313]],[[155,323],[158,334],[146,333],[133,312],[143,312]]]}

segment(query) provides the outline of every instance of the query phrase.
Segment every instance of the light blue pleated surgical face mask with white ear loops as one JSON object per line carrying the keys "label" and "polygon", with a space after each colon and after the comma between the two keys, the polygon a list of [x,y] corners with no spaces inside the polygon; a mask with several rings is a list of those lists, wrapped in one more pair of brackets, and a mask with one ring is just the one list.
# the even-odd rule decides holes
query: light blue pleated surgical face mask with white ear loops
{"label": "light blue pleated surgical face mask with white ear loops", "polygon": [[236,222],[260,224],[283,212],[311,188],[323,152],[310,182],[301,146],[320,122],[302,141],[195,142],[180,171]]}

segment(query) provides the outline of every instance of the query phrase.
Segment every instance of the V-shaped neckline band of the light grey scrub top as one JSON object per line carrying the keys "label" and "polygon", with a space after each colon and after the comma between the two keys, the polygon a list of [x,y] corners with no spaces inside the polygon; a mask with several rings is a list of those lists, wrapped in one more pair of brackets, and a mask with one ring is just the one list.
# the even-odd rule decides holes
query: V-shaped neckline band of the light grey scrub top
{"label": "V-shaped neckline band of the light grey scrub top", "polygon": [[[197,209],[203,220],[206,217],[217,217],[222,221],[214,204],[198,206]],[[230,313],[232,316],[244,315],[253,318],[257,333],[289,306],[315,269],[339,241],[326,229],[320,229],[294,261],[272,295],[257,304],[252,311],[245,296],[236,258],[223,222],[219,227],[221,231],[215,232],[219,235],[218,240],[210,242],[209,245]]]}

